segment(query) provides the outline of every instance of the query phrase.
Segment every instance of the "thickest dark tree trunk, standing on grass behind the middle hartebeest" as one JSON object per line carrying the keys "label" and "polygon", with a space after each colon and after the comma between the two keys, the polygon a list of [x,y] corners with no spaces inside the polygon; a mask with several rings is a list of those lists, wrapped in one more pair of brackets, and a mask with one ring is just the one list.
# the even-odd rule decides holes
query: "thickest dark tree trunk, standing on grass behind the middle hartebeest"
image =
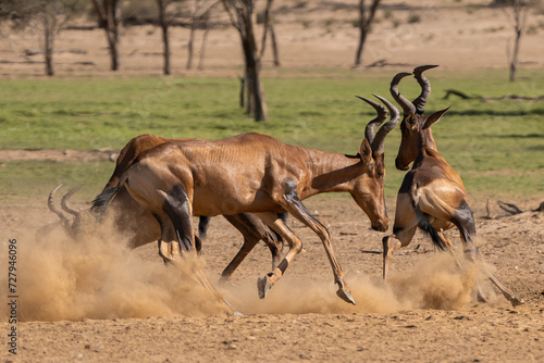
{"label": "thickest dark tree trunk, standing on grass behind the middle hartebeest", "polygon": [[243,91],[246,90],[246,111],[255,121],[268,121],[267,102],[261,87],[261,60],[257,52],[254,30],[254,0],[222,0],[232,25],[238,30],[245,61]]}

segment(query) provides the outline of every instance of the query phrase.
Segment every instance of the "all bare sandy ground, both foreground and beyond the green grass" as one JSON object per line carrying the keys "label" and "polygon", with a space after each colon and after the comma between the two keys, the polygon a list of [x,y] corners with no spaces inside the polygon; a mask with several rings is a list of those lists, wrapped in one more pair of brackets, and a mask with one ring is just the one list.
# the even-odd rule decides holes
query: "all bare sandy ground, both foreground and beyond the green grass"
{"label": "all bare sandy ground, both foreground and beyond the green grass", "polygon": [[[282,9],[286,1],[276,3]],[[276,15],[283,66],[316,72],[349,68],[357,39],[349,23],[356,17],[356,2],[347,8],[336,7],[339,1],[298,3],[306,5]],[[512,32],[500,10],[478,7],[485,3],[384,1],[384,10],[393,15],[380,13],[364,64],[385,60],[403,68],[422,63],[449,70],[506,66]],[[412,13],[421,21],[408,23]],[[544,65],[542,16],[537,12],[529,16],[528,24],[536,33],[523,38],[522,66]],[[24,55],[25,49],[37,48],[36,34],[2,28],[2,35],[1,76],[40,77],[40,55]],[[238,72],[242,58],[235,32],[210,32],[205,71],[184,68],[187,36],[187,29],[173,29],[174,75]],[[159,75],[159,37],[151,27],[125,28],[119,74]],[[59,75],[111,75],[101,30],[61,33],[57,48],[84,50],[57,53]],[[270,62],[268,53],[264,66]],[[90,161],[112,154],[111,150],[9,152],[3,160]],[[357,305],[335,296],[321,242],[290,221],[305,252],[264,300],[258,299],[256,288],[257,278],[270,272],[270,253],[263,245],[227,285],[218,286],[243,314],[234,315],[193,280],[191,271],[202,262],[166,267],[154,243],[129,251],[123,237],[95,233],[74,242],[58,229],[40,229],[58,220],[47,210],[46,198],[0,210],[1,286],[8,286],[10,239],[17,241],[18,268],[16,325],[9,323],[8,293],[2,290],[0,356],[4,362],[544,361],[543,212],[505,216],[492,204],[492,218],[484,218],[485,200],[471,196],[483,258],[526,301],[512,308],[473,266],[457,270],[421,235],[395,254],[392,276],[384,284],[380,277],[383,235],[370,229],[368,218],[348,197],[311,199],[309,210],[330,229]],[[517,202],[530,210],[541,201]],[[394,200],[387,202],[392,217]],[[457,233],[449,236],[459,242]],[[239,235],[222,217],[212,220],[201,268],[213,284],[240,245]],[[475,301],[474,281],[484,288],[487,303]],[[9,353],[8,334],[13,326],[17,355]]]}

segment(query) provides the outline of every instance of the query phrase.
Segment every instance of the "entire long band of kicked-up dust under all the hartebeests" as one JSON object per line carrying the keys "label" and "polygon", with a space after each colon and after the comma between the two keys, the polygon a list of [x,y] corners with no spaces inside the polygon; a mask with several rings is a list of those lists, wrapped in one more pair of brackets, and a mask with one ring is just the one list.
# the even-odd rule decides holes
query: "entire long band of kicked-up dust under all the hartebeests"
{"label": "entire long band of kicked-up dust under all the hartebeests", "polygon": [[[21,238],[17,260],[20,321],[77,321],[148,316],[206,316],[232,313],[199,284],[205,262],[186,259],[176,265],[144,260],[126,239],[108,234],[74,240],[63,233]],[[7,261],[1,261],[5,265]],[[7,285],[5,277],[1,284]],[[446,253],[431,253],[410,271],[393,273],[387,284],[376,276],[348,279],[357,305],[336,297],[331,279],[287,274],[264,300],[254,278],[218,287],[243,314],[393,313],[413,309],[457,310],[473,299],[479,271],[462,270]],[[5,284],[4,284],[5,283]],[[8,311],[0,309],[5,321]]]}

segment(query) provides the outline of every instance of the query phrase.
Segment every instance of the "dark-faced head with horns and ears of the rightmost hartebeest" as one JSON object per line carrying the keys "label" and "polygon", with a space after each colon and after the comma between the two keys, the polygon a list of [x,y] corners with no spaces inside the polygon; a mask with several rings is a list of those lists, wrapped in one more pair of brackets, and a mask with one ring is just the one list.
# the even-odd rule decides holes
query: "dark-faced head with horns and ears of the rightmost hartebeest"
{"label": "dark-faced head with horns and ears of the rightmost hartebeest", "polygon": [[404,111],[403,122],[400,123],[400,147],[398,148],[398,154],[395,159],[395,166],[398,170],[408,170],[410,163],[416,160],[419,150],[422,147],[436,150],[436,143],[434,142],[433,134],[431,132],[431,125],[438,122],[442,115],[449,109],[447,108],[436,111],[429,116],[423,114],[425,111],[426,100],[431,95],[431,83],[423,75],[423,72],[436,66],[437,65],[422,65],[413,70],[413,77],[421,86],[421,93],[412,102],[407,100],[398,91],[398,83],[400,79],[411,75],[412,73],[398,73],[391,82],[391,95]]}

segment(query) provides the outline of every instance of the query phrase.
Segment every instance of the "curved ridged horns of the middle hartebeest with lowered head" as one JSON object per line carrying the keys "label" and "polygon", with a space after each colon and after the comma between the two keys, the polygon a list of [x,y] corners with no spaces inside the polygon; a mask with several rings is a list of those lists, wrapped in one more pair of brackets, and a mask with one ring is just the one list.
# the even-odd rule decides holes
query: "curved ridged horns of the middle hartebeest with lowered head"
{"label": "curved ridged horns of the middle hartebeest with lowered head", "polygon": [[[398,110],[383,97],[380,97],[378,95],[372,96],[382,101],[382,103],[385,104],[387,107],[387,110],[390,110],[391,112],[390,121],[387,121],[382,127],[380,127],[380,125],[383,124],[383,122],[387,118],[387,110],[383,107],[383,104],[380,104],[376,101],[370,100],[364,97],[356,97],[373,107],[378,112],[378,116],[367,124],[367,127],[364,128],[364,137],[369,141],[372,151],[374,151],[375,153],[383,153],[385,136],[387,136],[387,134],[398,124],[400,114]],[[376,133],[378,127],[380,127],[380,129]]]}

